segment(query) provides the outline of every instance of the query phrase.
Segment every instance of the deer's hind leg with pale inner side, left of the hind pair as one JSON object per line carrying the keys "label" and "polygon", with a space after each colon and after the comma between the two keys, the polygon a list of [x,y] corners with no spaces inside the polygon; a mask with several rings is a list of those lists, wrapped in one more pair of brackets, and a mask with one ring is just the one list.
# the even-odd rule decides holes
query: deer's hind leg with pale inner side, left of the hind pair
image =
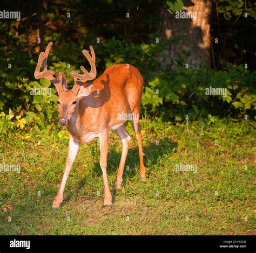
{"label": "deer's hind leg with pale inner side, left of the hind pair", "polygon": [[122,144],[123,144],[122,155],[121,155],[121,159],[120,159],[120,163],[117,171],[117,179],[116,179],[116,182],[114,183],[116,188],[120,189],[123,182],[125,160],[129,150],[131,136],[129,135],[129,132],[126,130],[124,125],[119,126],[119,128],[117,128],[115,131],[119,135],[119,137],[122,139]]}

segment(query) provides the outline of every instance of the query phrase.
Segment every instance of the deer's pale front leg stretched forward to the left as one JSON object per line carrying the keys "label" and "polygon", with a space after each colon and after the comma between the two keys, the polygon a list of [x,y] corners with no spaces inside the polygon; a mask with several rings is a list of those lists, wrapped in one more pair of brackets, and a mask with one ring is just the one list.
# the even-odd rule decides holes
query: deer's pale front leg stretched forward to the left
{"label": "deer's pale front leg stretched forward to the left", "polygon": [[79,145],[80,144],[78,142],[76,142],[76,140],[74,140],[72,138],[72,136],[69,137],[68,156],[66,157],[66,164],[65,164],[65,168],[64,168],[64,174],[63,174],[63,178],[62,178],[62,183],[61,183],[61,185],[59,187],[58,194],[57,194],[55,200],[52,203],[52,209],[53,210],[55,210],[57,207],[59,207],[60,204],[62,203],[63,192],[64,192],[64,188],[65,188],[65,185],[66,185],[66,180],[68,179],[69,172],[71,170],[73,161],[75,160],[75,158],[77,156]]}

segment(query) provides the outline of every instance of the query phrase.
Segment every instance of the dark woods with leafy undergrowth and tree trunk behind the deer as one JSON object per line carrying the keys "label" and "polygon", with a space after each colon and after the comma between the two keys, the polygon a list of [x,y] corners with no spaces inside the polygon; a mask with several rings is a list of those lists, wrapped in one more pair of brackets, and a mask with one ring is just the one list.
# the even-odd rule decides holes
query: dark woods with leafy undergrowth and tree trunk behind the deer
{"label": "dark woods with leafy undergrowth and tree trunk behind the deer", "polygon": [[[182,6],[197,19],[177,19]],[[145,82],[144,117],[178,123],[189,115],[208,124],[254,117],[254,1],[2,1],[3,10],[21,11],[21,20],[0,20],[0,110],[17,115],[22,129],[46,128],[57,117],[56,95],[30,94],[35,86],[56,94],[33,77],[50,41],[48,68],[64,71],[69,86],[70,71],[89,68],[82,54],[89,45],[98,75],[113,64],[136,66]],[[206,95],[210,86],[227,88],[227,96]]]}

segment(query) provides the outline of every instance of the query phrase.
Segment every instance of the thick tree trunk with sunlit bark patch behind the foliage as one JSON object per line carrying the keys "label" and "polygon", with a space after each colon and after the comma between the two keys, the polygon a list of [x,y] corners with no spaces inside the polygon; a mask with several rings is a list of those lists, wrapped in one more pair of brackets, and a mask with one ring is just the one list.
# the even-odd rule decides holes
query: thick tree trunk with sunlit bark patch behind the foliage
{"label": "thick tree trunk with sunlit bark patch behind the foliage", "polygon": [[209,19],[212,1],[183,0],[183,2],[182,12],[179,12],[180,18],[178,18],[177,12],[171,14],[167,11],[168,7],[166,4],[162,4],[160,7],[162,17],[160,35],[164,43],[167,40],[178,39],[187,34],[187,37],[178,44],[171,43],[170,46],[167,46],[164,53],[160,55],[160,61],[166,66],[173,63],[173,61],[175,62],[178,59],[178,55],[183,51],[189,51],[191,54],[185,59],[184,64],[188,64],[188,67],[195,69],[200,69],[203,66],[210,68],[211,34]]}

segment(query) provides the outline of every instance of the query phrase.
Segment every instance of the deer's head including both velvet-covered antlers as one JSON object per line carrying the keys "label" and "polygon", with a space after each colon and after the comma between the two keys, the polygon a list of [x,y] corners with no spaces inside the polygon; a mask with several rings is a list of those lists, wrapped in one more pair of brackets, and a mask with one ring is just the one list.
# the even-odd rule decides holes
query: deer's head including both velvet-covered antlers
{"label": "deer's head including both velvet-covered antlers", "polygon": [[[90,46],[91,54],[86,50],[83,50],[82,53],[90,62],[91,71],[90,73],[86,71],[86,69],[81,66],[81,70],[83,71],[83,75],[77,74],[76,72],[70,72],[70,74],[74,78],[74,85],[72,89],[68,89],[66,87],[66,78],[63,72],[58,74],[58,78],[56,79],[53,74],[54,71],[47,70],[47,59],[49,52],[51,50],[52,42],[48,44],[46,47],[45,52],[41,52],[39,54],[36,71],[34,76],[36,79],[45,78],[50,80],[51,83],[56,87],[58,92],[58,107],[59,107],[59,124],[60,125],[67,125],[72,114],[78,108],[79,100],[82,97],[90,95],[92,92],[92,83],[87,82],[96,78],[97,71],[95,66],[95,52],[93,51],[92,46]],[[40,71],[41,67],[43,67],[43,71]]]}

